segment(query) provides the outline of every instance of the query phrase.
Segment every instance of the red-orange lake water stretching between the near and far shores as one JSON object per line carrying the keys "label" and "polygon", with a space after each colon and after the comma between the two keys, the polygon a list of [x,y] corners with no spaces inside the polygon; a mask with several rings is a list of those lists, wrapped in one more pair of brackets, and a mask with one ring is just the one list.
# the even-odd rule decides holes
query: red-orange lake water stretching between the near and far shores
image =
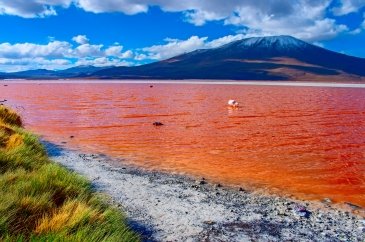
{"label": "red-orange lake water stretching between the near and far shores", "polygon": [[85,152],[365,206],[365,89],[153,85],[10,83],[0,94],[28,128]]}

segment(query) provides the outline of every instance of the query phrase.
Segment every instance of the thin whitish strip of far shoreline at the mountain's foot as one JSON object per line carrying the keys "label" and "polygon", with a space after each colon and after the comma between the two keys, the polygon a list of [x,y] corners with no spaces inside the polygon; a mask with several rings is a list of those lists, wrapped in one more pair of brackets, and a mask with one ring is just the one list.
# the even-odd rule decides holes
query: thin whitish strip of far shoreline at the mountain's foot
{"label": "thin whitish strip of far shoreline at the mountain's foot", "polygon": [[64,79],[64,80],[0,80],[1,84],[188,84],[188,85],[245,85],[286,87],[365,88],[364,82],[315,82],[315,81],[242,81],[242,80],[113,80],[113,79]]}

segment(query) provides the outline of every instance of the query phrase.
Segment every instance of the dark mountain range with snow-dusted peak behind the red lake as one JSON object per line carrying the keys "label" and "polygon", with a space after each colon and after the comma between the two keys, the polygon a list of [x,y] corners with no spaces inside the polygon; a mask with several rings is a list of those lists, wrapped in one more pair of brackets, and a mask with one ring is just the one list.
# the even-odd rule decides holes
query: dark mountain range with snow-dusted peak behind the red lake
{"label": "dark mountain range with snow-dusted peak behind the red lake", "polygon": [[[54,75],[53,72],[46,74]],[[365,77],[365,59],[291,36],[270,36],[238,40],[142,66],[85,70],[76,67],[55,75],[101,79],[360,80]]]}

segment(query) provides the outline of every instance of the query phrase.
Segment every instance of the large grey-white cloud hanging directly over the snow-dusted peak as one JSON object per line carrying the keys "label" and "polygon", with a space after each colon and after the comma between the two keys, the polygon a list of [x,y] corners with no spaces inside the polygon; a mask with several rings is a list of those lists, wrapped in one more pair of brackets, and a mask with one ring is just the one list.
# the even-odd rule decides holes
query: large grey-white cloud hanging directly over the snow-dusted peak
{"label": "large grey-white cloud hanging directly over the snow-dusted peak", "polygon": [[345,25],[338,25],[335,20],[325,17],[330,1],[295,3],[291,2],[282,12],[274,6],[261,9],[255,5],[241,7],[225,23],[249,27],[242,31],[246,35],[292,35],[311,42],[330,39],[347,31]]}

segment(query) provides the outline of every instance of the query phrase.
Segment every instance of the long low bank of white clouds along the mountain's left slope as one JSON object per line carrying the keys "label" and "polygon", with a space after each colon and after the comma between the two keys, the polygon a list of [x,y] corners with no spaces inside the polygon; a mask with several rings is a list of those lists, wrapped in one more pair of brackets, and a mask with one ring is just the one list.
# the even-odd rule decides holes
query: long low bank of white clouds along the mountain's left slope
{"label": "long low bank of white clouds along the mountain's left slope", "polygon": [[168,59],[196,49],[216,48],[245,36],[227,35],[213,40],[198,36],[183,40],[166,38],[159,45],[135,50],[124,50],[119,43],[111,46],[91,44],[84,35],[72,38],[76,44],[53,38],[47,44],[0,43],[0,71],[66,69],[78,65],[132,66]]}

